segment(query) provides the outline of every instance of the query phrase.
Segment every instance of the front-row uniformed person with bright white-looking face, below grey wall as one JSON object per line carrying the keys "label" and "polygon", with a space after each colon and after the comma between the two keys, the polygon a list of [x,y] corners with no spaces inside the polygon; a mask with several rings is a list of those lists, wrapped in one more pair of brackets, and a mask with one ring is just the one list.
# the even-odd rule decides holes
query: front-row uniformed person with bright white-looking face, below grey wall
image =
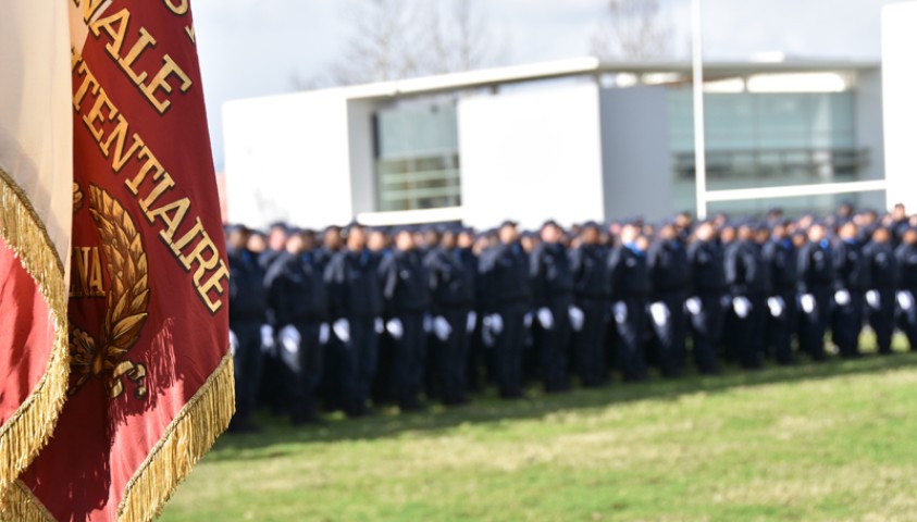
{"label": "front-row uniformed person with bright white-looking face, below grey wall", "polygon": [[640,228],[634,224],[621,227],[621,245],[609,259],[611,313],[620,339],[618,360],[625,382],[647,378],[643,333],[649,303],[649,270],[646,252],[637,245]]}

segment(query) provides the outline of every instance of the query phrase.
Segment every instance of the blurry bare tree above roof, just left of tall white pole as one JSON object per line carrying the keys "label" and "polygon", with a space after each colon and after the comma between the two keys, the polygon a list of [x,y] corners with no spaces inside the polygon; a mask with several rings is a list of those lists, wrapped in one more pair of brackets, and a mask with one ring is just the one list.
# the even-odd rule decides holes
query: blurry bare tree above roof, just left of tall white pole
{"label": "blurry bare tree above roof, just left of tall white pole", "polygon": [[659,0],[609,0],[591,47],[605,59],[670,58],[673,38],[674,29],[660,11]]}

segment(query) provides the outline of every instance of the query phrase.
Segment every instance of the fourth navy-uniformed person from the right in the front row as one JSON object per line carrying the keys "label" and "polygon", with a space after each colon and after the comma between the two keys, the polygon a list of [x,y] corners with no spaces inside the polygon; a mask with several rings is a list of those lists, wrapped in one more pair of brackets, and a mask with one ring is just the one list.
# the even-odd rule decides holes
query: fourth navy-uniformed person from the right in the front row
{"label": "fourth navy-uniformed person from the right in the front row", "polygon": [[800,348],[816,361],[826,359],[825,331],[831,311],[834,283],[834,253],[825,235],[825,226],[814,223],[808,243],[800,249],[796,263],[798,277]]}

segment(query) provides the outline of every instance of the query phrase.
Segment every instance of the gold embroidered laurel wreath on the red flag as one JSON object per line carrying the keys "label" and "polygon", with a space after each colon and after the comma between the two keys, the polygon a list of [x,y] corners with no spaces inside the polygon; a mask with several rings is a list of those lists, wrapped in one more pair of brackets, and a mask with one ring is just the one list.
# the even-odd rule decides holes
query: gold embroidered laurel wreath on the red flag
{"label": "gold embroidered laurel wreath on the red flag", "polygon": [[[75,188],[74,199],[77,195],[82,200],[82,191]],[[71,368],[79,378],[67,395],[76,394],[91,377],[97,377],[104,381],[109,396],[115,398],[124,391],[122,377],[126,377],[136,385],[134,396],[144,398],[147,368],[125,356],[137,343],[148,315],[147,254],[131,215],[96,185],[89,186],[89,213],[99,229],[111,288],[101,338],[97,341],[78,327],[71,331]]]}

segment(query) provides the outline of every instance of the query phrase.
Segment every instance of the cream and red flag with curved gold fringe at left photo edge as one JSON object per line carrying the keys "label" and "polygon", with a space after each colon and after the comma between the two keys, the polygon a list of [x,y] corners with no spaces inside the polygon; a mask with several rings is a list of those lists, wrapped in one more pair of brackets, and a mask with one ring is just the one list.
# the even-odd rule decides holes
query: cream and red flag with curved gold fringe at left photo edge
{"label": "cream and red flag with curved gold fringe at left photo edge", "polygon": [[69,50],[66,2],[2,2],[0,497],[48,440],[67,387]]}

